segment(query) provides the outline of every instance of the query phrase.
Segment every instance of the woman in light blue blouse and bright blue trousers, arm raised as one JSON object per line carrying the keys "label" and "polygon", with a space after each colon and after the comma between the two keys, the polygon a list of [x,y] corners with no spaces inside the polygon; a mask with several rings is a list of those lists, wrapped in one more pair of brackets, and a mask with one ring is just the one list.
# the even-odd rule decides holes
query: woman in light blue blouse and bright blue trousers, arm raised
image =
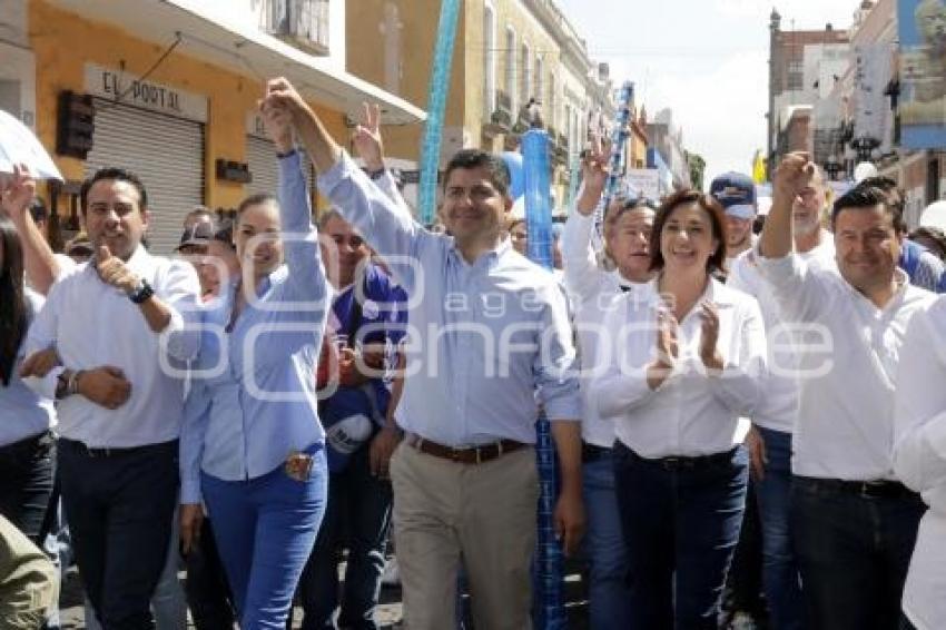
{"label": "woman in light blue blouse and bright blue trousers, arm raised", "polygon": [[[270,88],[272,82],[270,82]],[[279,199],[237,209],[238,278],[200,314],[181,431],[181,539],[201,501],[242,628],[285,628],[325,510],[315,365],[331,295],[290,115],[263,104],[279,154]]]}

